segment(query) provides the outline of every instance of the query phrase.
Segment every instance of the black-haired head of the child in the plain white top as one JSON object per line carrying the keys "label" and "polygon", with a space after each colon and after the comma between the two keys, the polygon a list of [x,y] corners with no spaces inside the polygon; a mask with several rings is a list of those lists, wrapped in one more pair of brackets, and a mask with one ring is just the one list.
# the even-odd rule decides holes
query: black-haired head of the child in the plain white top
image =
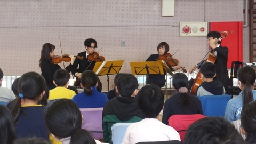
{"label": "black-haired head of the child in the plain white top", "polygon": [[138,106],[146,118],[156,118],[164,106],[164,94],[155,84],[143,86],[137,94]]}

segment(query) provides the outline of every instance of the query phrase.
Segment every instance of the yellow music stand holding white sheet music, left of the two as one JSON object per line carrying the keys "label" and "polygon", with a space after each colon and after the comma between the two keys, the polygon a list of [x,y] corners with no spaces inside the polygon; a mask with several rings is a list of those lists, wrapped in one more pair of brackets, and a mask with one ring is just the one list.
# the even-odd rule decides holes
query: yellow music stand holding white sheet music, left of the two
{"label": "yellow music stand holding white sheet music, left of the two", "polygon": [[109,76],[108,75],[115,75],[118,74],[124,60],[116,60],[116,61],[108,61],[105,60],[103,62],[96,62],[93,68],[93,71],[98,75],[107,75],[108,78],[108,91],[109,91]]}

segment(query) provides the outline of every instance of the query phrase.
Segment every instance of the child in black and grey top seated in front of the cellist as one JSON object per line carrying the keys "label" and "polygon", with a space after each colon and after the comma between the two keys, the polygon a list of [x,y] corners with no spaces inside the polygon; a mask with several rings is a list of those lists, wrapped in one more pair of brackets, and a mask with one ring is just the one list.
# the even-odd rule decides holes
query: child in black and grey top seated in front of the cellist
{"label": "child in black and grey top seated in front of the cellist", "polygon": [[216,65],[211,62],[204,62],[200,72],[203,82],[196,89],[197,96],[225,94],[224,86],[214,78],[216,76]]}

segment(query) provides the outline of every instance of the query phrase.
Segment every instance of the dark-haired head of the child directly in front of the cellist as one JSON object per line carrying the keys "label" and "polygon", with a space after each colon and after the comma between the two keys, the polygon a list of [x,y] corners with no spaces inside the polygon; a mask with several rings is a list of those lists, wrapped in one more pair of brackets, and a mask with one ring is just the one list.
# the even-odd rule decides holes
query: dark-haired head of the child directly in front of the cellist
{"label": "dark-haired head of the child directly in front of the cellist", "polygon": [[216,74],[216,65],[206,61],[201,66],[200,72],[204,75],[205,78],[213,78]]}

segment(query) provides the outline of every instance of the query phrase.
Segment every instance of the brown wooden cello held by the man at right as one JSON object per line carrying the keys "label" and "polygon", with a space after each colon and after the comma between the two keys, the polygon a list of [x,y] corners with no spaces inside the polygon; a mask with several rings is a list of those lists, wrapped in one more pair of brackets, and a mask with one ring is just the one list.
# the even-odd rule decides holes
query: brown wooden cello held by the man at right
{"label": "brown wooden cello held by the man at right", "polygon": [[[223,31],[223,36],[221,36],[218,41],[216,41],[214,44],[217,44],[217,42],[220,42],[223,38],[227,37],[228,36],[228,32],[227,31]],[[212,63],[215,63],[215,60],[216,60],[216,55],[214,53],[212,53],[212,47],[211,49],[205,54],[204,58],[202,59],[202,61],[200,63],[198,63],[198,65],[196,65],[193,69],[193,71],[195,71],[196,68],[200,68],[201,65],[204,63],[204,62],[212,62]],[[207,58],[206,58],[207,57]],[[205,59],[206,58],[206,59]],[[192,71],[192,72],[193,72]],[[203,80],[201,79],[201,72],[198,71],[197,75],[196,75],[196,78],[195,78],[195,81],[194,83],[191,85],[191,91],[190,93],[192,94],[196,94],[196,89],[197,89],[197,86],[201,85],[201,83],[203,82]]]}

